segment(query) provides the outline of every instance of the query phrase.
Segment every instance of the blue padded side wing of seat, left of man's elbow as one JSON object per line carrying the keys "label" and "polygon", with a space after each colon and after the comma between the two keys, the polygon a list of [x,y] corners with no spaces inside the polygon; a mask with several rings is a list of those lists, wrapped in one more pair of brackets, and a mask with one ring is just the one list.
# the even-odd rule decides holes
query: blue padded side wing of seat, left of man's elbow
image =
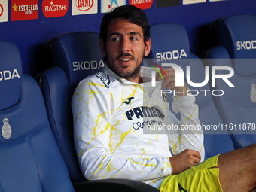
{"label": "blue padded side wing of seat, left of man's elbow", "polygon": [[72,91],[66,73],[58,66],[41,76],[41,91],[50,127],[61,151],[72,181],[83,181],[84,176],[75,153],[71,98]]}

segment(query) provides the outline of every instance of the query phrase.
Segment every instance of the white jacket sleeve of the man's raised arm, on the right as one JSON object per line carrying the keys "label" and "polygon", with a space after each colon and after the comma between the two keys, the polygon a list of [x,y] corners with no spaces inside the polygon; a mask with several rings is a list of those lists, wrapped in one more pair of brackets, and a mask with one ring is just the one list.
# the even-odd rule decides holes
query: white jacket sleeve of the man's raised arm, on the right
{"label": "white jacket sleeve of the man's raised arm, on the right", "polygon": [[[169,132],[169,145],[172,154],[178,154],[185,149],[193,149],[200,152],[201,161],[205,157],[203,145],[203,130],[199,130],[200,120],[198,118],[198,106],[194,103],[194,96],[174,96],[174,105],[181,114],[181,120],[177,120],[174,114],[169,111],[169,118],[166,123],[175,122],[178,129]],[[171,121],[168,121],[171,120]]]}

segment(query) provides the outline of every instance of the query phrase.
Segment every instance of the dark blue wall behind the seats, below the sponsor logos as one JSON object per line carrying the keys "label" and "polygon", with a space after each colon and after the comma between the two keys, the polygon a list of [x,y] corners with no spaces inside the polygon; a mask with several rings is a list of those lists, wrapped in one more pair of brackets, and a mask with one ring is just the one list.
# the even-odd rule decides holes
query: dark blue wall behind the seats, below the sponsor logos
{"label": "dark blue wall behind the seats, below the sponsor logos", "polygon": [[[23,60],[23,72],[30,75],[35,75],[46,66],[44,63],[44,45],[47,41],[67,32],[99,32],[99,25],[103,16],[100,12],[101,0],[98,0],[98,14],[75,16],[72,16],[72,1],[69,0],[69,9],[65,16],[47,18],[41,11],[43,0],[39,0],[38,19],[11,21],[11,0],[0,0],[0,3],[3,1],[8,1],[8,21],[0,23],[1,39],[12,41],[18,45]],[[255,0],[220,2],[206,0],[205,3],[191,5],[182,5],[182,0],[180,0],[180,5],[163,8],[157,8],[157,0],[151,1],[154,1],[151,8],[145,9],[149,23],[183,24],[190,38],[190,50],[198,56],[208,47],[208,27],[213,20],[230,14],[256,14]],[[126,0],[126,4],[129,4],[129,0]]]}

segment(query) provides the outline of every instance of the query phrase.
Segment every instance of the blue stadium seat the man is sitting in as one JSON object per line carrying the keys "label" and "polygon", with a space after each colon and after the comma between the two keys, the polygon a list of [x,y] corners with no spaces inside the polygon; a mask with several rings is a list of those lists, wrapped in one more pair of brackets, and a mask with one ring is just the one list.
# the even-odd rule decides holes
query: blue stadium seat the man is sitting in
{"label": "blue stadium seat the man is sitting in", "polygon": [[[78,164],[73,139],[71,100],[79,81],[104,66],[96,32],[71,32],[50,41],[54,65],[43,72],[39,84],[44,96],[53,135],[69,169],[75,189],[85,178]],[[89,191],[159,191],[139,181],[108,179],[85,181]],[[78,186],[77,186],[78,184]],[[79,190],[80,191],[80,190]]]}

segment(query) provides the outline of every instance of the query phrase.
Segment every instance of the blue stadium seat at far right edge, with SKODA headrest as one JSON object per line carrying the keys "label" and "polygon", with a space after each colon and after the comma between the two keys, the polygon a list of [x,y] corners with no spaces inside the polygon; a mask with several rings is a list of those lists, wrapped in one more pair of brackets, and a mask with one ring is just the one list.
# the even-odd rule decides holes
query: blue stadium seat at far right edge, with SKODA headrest
{"label": "blue stadium seat at far right edge, with SKODA headrest", "polygon": [[217,45],[206,52],[205,64],[234,69],[229,80],[235,87],[217,79],[215,88],[225,93],[215,98],[215,103],[224,124],[233,133],[235,148],[242,148],[256,142],[256,16],[236,14],[223,17],[214,22],[214,29]]}

